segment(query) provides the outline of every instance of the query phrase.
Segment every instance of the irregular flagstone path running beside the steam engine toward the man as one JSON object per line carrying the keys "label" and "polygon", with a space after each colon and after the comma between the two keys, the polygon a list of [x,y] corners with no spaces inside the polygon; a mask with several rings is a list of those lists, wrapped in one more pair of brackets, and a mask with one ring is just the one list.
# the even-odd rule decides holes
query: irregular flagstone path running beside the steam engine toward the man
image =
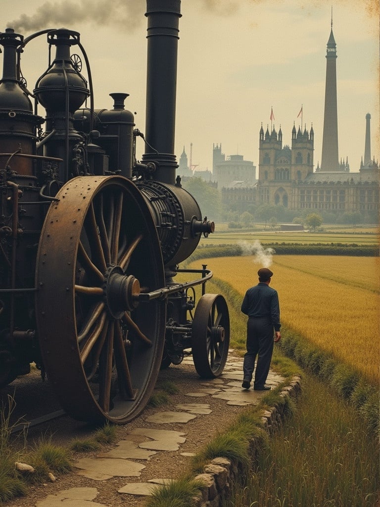
{"label": "irregular flagstone path running beside the steam engine toward the man", "polygon": [[[183,361],[193,365],[193,359],[187,357]],[[193,365],[194,367],[194,365]],[[188,403],[175,406],[175,410],[157,412],[142,420],[157,427],[136,427],[117,446],[105,453],[99,453],[95,458],[82,458],[75,463],[78,476],[94,481],[107,481],[113,477],[133,478],[140,477],[141,471],[149,472],[149,459],[157,453],[178,451],[181,444],[186,441],[186,433],[165,429],[165,425],[180,423],[185,425],[195,418],[209,415],[212,411],[207,400],[210,397],[225,400],[227,405],[248,406],[258,404],[263,391],[243,390],[243,359],[230,354],[223,374],[207,381],[200,380],[199,388],[194,392],[185,392]],[[283,378],[270,372],[267,384],[276,386]],[[185,428],[184,428],[185,431]],[[197,451],[198,449],[194,449]],[[183,456],[192,456],[195,453],[180,453]],[[143,462],[143,463],[141,463]],[[156,467],[157,474],[157,467]],[[163,470],[164,474],[164,470]],[[146,476],[146,474],[145,474]],[[128,482],[118,489],[121,495],[150,495],[157,484],[170,481],[170,477],[160,479],[152,478],[146,482]],[[36,502],[35,507],[111,507],[95,501],[98,490],[96,487],[74,487],[50,494],[43,500]]]}

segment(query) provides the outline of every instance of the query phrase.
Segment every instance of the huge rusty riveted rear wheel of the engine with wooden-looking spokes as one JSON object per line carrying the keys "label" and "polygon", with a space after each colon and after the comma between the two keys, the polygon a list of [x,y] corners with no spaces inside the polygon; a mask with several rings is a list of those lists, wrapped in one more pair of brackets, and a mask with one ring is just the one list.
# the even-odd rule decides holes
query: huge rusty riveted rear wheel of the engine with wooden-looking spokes
{"label": "huge rusty riveted rear wheel of the engine with wooden-looking spokes", "polygon": [[136,186],[79,176],[47,213],[36,263],[36,321],[48,378],[83,421],[125,423],[153,391],[166,307],[156,227]]}

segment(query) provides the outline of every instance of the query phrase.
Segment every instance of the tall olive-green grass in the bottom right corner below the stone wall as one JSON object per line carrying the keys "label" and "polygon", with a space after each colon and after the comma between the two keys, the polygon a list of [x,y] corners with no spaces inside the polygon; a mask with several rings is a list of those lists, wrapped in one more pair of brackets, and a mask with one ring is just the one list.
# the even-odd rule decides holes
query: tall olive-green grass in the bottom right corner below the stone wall
{"label": "tall olive-green grass in the bottom right corner below the stone wall", "polygon": [[269,441],[246,487],[238,486],[225,506],[376,505],[377,439],[323,384],[307,377],[302,389],[294,418]]}

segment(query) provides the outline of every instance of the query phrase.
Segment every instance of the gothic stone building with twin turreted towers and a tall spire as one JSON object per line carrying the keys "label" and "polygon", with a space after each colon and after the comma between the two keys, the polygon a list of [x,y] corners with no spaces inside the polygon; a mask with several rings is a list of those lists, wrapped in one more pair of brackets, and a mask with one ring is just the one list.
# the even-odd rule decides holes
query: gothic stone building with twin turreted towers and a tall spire
{"label": "gothic stone building with twin turreted towers and a tall spire", "polygon": [[350,172],[348,159],[338,160],[336,107],[336,44],[331,32],[326,53],[325,113],[321,167],[313,171],[314,131],[292,130],[291,147],[277,134],[259,132],[259,172],[256,204],[283,205],[290,210],[336,214],[360,211],[376,216],[379,209],[379,168],[370,155],[370,114],[366,115],[364,161]]}

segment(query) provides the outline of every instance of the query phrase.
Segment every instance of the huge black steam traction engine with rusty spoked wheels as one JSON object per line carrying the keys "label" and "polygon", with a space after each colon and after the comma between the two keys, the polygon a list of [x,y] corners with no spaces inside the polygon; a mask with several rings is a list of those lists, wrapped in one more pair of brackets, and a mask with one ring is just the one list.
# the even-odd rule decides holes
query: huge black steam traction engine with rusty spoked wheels
{"label": "huge black steam traction engine with rusty spoked wheels", "polygon": [[[94,110],[78,32],[43,30],[25,40],[12,28],[0,33],[0,386],[34,361],[80,420],[127,422],[147,403],[162,365],[179,364],[191,349],[199,375],[216,377],[229,347],[225,300],[205,294],[211,271],[204,266],[186,283],[174,278],[214,230],[175,179],[180,0],[147,0],[146,16],[141,162],[127,94],[111,94],[110,111]],[[32,94],[20,55],[40,35],[56,56]],[[193,315],[195,285],[203,295]]]}

